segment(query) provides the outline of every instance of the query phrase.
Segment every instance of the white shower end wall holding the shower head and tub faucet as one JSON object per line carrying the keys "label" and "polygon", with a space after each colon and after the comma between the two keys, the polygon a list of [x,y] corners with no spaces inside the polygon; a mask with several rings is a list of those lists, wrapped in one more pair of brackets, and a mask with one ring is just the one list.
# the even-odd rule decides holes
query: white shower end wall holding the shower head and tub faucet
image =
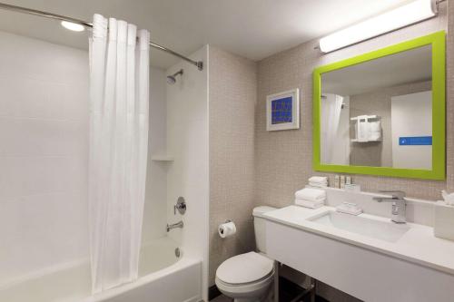
{"label": "white shower end wall holding the shower head and tub faucet", "polygon": [[[181,242],[183,253],[200,258],[203,298],[207,301],[208,272],[208,46],[192,54],[202,60],[203,71],[189,63],[177,63],[168,74],[183,68],[183,76],[167,85],[167,145],[174,157],[168,163],[167,216],[169,223],[183,219],[183,229],[173,229],[170,236]],[[186,214],[173,215],[179,196],[187,203]]]}

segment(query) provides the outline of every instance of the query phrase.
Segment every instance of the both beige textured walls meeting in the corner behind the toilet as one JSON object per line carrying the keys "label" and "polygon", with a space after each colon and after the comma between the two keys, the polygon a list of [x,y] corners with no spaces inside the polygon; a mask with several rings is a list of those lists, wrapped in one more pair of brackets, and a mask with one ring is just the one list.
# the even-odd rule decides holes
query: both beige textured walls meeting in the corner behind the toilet
{"label": "both beige textured walls meeting in the corner behind the toilet", "polygon": [[[311,73],[316,66],[449,28],[447,160],[448,188],[454,190],[454,0],[449,0],[449,23],[446,6],[441,4],[437,18],[332,54],[322,55],[315,50],[318,41],[314,40],[256,65],[210,47],[210,286],[223,260],[254,248],[252,208],[291,204],[293,192],[315,174],[311,166]],[[295,87],[301,89],[301,129],[266,132],[266,95]],[[439,198],[439,190],[447,187],[447,181],[360,175],[354,175],[353,180],[364,190],[403,188],[410,196],[426,199]],[[217,235],[217,227],[225,219],[237,224],[238,232],[231,239]],[[331,291],[342,300],[352,300]]]}

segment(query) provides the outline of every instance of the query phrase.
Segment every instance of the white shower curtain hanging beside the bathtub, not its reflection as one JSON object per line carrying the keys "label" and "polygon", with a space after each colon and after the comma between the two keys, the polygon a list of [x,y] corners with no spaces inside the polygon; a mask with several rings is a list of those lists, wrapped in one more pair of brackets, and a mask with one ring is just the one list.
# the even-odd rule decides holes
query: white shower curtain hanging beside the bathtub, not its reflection
{"label": "white shower curtain hanging beside the bathtub, not its reflection", "polygon": [[[138,38],[137,38],[138,37]],[[94,15],[89,214],[94,293],[137,278],[148,148],[147,31]]]}

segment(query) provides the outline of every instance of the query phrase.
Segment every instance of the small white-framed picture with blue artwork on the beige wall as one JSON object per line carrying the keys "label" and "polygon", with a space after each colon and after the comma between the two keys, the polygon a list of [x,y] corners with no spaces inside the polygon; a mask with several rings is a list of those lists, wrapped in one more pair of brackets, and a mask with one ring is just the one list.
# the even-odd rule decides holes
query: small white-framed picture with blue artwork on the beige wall
{"label": "small white-framed picture with blue artwork on the beige wall", "polygon": [[266,130],[300,129],[300,89],[266,97]]}

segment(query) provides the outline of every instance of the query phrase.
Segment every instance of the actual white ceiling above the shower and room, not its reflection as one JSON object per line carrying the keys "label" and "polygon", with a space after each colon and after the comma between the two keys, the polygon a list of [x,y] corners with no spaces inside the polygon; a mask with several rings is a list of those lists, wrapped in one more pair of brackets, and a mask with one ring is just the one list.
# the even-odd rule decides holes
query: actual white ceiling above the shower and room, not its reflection
{"label": "actual white ceiling above the shower and room, not its reflection", "polygon": [[[214,44],[259,61],[409,0],[0,0],[91,22],[94,13],[149,29],[154,43],[181,54]],[[87,49],[87,34],[55,21],[0,10],[0,30]],[[153,66],[177,60],[153,51]]]}

